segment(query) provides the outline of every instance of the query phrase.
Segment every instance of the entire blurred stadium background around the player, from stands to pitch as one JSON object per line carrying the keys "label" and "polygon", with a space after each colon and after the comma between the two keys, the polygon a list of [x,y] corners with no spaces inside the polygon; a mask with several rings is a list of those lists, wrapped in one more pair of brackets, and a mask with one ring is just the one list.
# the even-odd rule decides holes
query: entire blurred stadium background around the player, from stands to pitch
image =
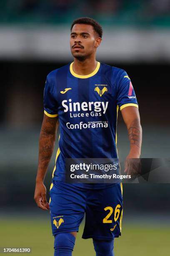
{"label": "entire blurred stadium background around the player, from stands to pitch", "polygon": [[[169,0],[0,1],[0,247],[32,247],[53,255],[50,212],[33,200],[38,139],[47,74],[72,61],[70,24],[90,16],[103,27],[97,60],[125,69],[140,106],[141,157],[169,158]],[[128,154],[128,135],[119,113],[118,153]],[[47,199],[55,151],[45,179]],[[124,184],[122,236],[115,255],[169,255],[169,184]],[[92,240],[77,236],[74,256],[95,255]]]}

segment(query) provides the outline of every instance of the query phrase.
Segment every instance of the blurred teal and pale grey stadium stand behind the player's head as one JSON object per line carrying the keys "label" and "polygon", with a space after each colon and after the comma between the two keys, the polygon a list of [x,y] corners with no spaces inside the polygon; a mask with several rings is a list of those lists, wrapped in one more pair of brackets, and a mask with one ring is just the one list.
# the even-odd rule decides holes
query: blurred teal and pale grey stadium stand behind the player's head
{"label": "blurred teal and pale grey stadium stand behind the player's head", "polygon": [[104,28],[105,61],[170,61],[169,0],[1,0],[0,59],[70,60],[70,24],[90,16]]}

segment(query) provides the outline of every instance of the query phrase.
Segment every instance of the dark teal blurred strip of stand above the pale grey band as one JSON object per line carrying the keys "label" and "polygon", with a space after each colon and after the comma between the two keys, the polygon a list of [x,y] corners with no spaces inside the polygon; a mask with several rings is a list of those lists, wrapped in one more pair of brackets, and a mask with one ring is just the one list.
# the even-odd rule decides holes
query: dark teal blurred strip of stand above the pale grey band
{"label": "dark teal blurred strip of stand above the pale grey band", "polygon": [[0,1],[0,22],[4,24],[70,24],[87,13],[103,25],[170,27],[169,0]]}

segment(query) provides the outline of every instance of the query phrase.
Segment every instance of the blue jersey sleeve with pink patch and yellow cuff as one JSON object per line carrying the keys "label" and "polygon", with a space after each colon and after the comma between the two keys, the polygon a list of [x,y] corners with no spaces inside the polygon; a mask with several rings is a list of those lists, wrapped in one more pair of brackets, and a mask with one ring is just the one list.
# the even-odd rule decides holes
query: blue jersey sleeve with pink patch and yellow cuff
{"label": "blue jersey sleeve with pink patch and yellow cuff", "polygon": [[118,74],[117,80],[117,105],[120,110],[128,106],[134,106],[138,108],[138,102],[136,99],[135,91],[133,89],[132,82],[128,77],[125,70],[122,70]]}

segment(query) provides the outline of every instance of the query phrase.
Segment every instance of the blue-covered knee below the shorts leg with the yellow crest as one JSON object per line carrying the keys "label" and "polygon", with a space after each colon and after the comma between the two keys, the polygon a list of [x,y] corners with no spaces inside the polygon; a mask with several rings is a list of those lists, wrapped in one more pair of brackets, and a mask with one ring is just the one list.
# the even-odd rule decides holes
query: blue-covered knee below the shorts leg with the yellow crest
{"label": "blue-covered knee below the shorts leg with the yellow crest", "polygon": [[[59,233],[55,235],[54,250],[56,255],[68,253],[71,255],[75,245],[75,236],[70,233]],[[70,254],[69,254],[70,253]]]}

